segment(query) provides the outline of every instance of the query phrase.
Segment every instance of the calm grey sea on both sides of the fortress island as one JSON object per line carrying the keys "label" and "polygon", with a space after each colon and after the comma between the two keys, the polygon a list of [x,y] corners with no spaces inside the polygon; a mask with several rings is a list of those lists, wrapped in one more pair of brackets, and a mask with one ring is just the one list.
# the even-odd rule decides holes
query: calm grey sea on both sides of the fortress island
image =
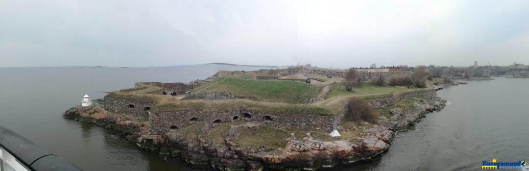
{"label": "calm grey sea on both sides of the fortress island", "polygon": [[[256,67],[0,68],[0,125],[84,170],[189,170],[92,123],[61,118],[86,93],[93,99],[135,82],[190,82],[218,70]],[[496,78],[437,92],[450,101],[417,130],[399,132],[382,156],[335,170],[478,170],[482,160],[529,160],[529,79]]]}

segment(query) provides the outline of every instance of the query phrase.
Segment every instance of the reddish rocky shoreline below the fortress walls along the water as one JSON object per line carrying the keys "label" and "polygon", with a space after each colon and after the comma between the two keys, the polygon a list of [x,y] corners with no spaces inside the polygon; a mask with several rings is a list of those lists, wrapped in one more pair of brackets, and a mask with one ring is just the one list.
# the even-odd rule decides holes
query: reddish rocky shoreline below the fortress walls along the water
{"label": "reddish rocky shoreline below the fortress walls along the water", "polygon": [[[316,170],[336,164],[351,164],[367,160],[385,152],[397,131],[407,130],[424,118],[425,114],[442,110],[446,101],[440,97],[421,100],[412,109],[391,110],[391,118],[381,117],[377,123],[361,122],[360,136],[354,140],[318,141],[311,134],[296,140],[294,134],[284,140],[285,148],[241,147],[233,142],[239,138],[237,130],[255,132],[259,123],[231,125],[222,141],[212,142],[199,136],[168,132],[150,136],[147,121],[105,111],[101,106],[76,106],[67,110],[64,118],[93,122],[125,133],[139,148],[158,152],[161,157],[175,158],[191,167],[215,170]],[[340,127],[338,128],[340,130]],[[343,128],[341,128],[343,129]],[[202,130],[207,133],[207,130]]]}

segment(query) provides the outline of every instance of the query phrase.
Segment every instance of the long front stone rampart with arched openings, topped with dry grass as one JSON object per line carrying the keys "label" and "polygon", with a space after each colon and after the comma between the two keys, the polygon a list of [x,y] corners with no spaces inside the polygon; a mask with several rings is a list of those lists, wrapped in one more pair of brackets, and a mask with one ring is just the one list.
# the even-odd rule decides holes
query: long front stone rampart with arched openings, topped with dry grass
{"label": "long front stone rampart with arched openings, topped with dry grass", "polygon": [[335,116],[295,115],[264,113],[247,110],[230,110],[205,113],[179,111],[152,113],[149,115],[150,134],[163,134],[171,129],[179,129],[196,122],[206,122],[209,128],[234,120],[261,122],[278,128],[317,129],[332,131]]}

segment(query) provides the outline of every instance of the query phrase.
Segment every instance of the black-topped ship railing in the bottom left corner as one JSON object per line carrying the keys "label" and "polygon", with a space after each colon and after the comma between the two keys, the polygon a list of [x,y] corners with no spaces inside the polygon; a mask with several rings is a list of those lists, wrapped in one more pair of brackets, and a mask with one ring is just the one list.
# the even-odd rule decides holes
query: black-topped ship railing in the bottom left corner
{"label": "black-topped ship railing in the bottom left corner", "polygon": [[[0,150],[2,150],[0,155],[4,156],[0,156],[0,170],[13,169],[12,166],[6,165],[6,162],[13,164],[12,160],[6,161],[6,158],[9,157],[14,157],[17,163],[29,170],[80,170],[68,161],[51,154],[30,140],[2,126],[0,126]],[[5,154],[5,152],[9,154]]]}

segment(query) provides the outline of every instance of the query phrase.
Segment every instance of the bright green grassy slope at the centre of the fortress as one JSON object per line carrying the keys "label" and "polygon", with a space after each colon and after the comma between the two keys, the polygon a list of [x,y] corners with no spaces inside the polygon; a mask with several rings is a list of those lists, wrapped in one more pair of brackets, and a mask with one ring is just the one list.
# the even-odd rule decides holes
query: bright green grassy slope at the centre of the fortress
{"label": "bright green grassy slope at the centre of the fortress", "polygon": [[198,93],[231,92],[243,96],[255,96],[259,101],[307,103],[316,97],[321,86],[295,81],[250,80],[224,77],[214,83],[196,88]]}

